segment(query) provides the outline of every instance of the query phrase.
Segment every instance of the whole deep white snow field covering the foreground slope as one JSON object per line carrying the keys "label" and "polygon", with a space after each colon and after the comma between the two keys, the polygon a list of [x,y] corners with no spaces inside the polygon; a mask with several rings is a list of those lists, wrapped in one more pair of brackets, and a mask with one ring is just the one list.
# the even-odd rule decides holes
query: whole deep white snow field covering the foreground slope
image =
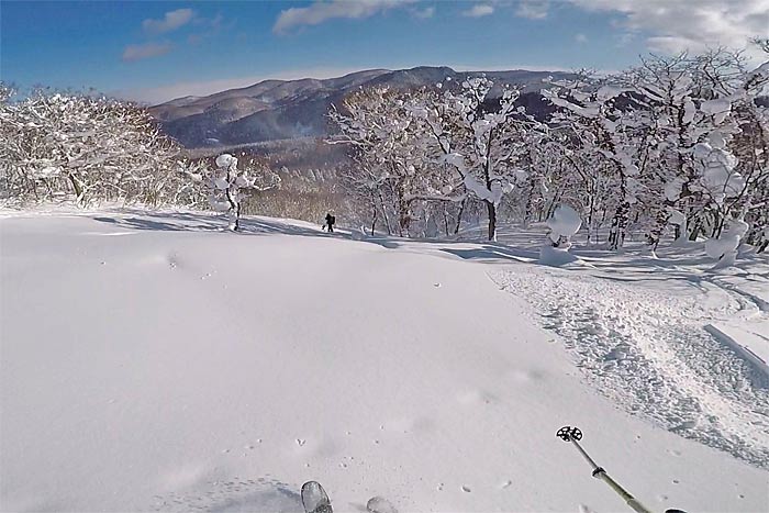
{"label": "whole deep white snow field covering the foreground slope", "polygon": [[1,511],[769,511],[769,257],[223,226],[2,213]]}

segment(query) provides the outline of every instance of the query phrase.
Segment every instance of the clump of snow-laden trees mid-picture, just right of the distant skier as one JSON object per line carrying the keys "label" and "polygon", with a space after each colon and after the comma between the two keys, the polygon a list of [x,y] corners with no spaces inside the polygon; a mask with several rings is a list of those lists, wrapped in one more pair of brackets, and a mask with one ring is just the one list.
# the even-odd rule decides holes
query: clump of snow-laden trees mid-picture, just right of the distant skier
{"label": "clump of snow-laden trees mid-picture, just right of the distant skier", "polygon": [[341,132],[333,142],[355,148],[357,172],[348,182],[368,191],[363,196],[375,216],[391,203],[401,235],[409,235],[415,220],[422,221],[421,233],[435,232],[438,223],[446,233],[454,224],[456,233],[473,199],[484,205],[488,236],[494,239],[503,196],[525,179],[516,163],[525,153],[525,133],[536,123],[515,107],[514,88],[492,97],[493,83],[484,77],[466,80],[458,91],[441,86],[348,97],[330,114]]}

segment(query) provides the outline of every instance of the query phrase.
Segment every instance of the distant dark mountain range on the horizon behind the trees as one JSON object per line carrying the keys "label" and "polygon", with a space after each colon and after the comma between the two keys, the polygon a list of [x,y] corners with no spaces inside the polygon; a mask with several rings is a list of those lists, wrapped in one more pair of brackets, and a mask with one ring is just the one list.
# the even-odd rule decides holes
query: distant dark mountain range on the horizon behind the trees
{"label": "distant dark mountain range on the horizon behind the trees", "polygon": [[[535,115],[550,107],[539,90],[547,77],[564,78],[559,71],[455,71],[448,67],[369,69],[344,77],[316,80],[264,80],[249,87],[230,89],[208,97],[185,97],[152,107],[149,112],[163,130],[188,148],[233,146],[297,137],[322,137],[333,130],[326,114],[349,93],[369,87],[397,90],[486,75],[497,86],[515,85],[519,100]],[[493,93],[493,91],[492,91]]]}

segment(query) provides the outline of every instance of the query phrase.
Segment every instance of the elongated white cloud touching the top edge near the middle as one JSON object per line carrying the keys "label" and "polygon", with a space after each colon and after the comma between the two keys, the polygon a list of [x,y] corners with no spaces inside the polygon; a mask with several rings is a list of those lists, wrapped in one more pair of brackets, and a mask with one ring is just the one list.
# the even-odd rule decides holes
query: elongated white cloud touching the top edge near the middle
{"label": "elongated white cloud touching the top edge near the middle", "polygon": [[369,18],[389,9],[403,7],[414,0],[331,0],[315,1],[308,7],[291,8],[280,11],[272,25],[276,34],[289,29],[304,25],[319,25],[335,18]]}

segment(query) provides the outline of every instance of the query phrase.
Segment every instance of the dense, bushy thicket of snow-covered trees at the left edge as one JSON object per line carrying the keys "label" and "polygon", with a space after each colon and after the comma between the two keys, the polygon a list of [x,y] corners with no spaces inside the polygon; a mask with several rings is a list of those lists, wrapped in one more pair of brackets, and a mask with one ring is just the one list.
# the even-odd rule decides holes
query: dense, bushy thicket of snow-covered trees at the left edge
{"label": "dense, bushy thicket of snow-covered trees at the left edge", "polygon": [[180,148],[136,105],[38,91],[0,101],[0,175],[8,201],[169,202]]}

